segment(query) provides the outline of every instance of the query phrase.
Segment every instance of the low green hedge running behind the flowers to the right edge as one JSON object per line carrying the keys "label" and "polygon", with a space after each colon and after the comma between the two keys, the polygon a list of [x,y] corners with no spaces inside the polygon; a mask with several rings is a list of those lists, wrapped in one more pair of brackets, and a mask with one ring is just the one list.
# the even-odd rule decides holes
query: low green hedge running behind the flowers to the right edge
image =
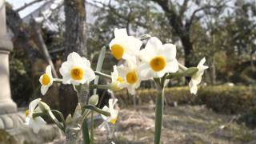
{"label": "low green hedge running behind the flowers to the right edge", "polygon": [[[224,114],[238,114],[255,106],[255,86],[205,86],[198,90],[196,96],[190,94],[188,86],[172,87],[165,90],[166,105],[193,104],[206,105],[212,110]],[[155,101],[156,90],[137,90],[136,102],[149,104]],[[134,103],[133,96],[126,90],[115,93],[121,106],[129,106]]]}

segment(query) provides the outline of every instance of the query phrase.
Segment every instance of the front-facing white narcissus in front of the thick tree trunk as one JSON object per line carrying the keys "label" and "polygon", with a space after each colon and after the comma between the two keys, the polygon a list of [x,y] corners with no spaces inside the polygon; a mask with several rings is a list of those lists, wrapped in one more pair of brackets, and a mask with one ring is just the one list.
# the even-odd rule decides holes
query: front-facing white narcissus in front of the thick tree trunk
{"label": "front-facing white narcissus in front of the thick tree trunk", "polygon": [[63,84],[79,85],[89,83],[95,78],[94,70],[90,68],[90,61],[75,52],[68,55],[59,72],[62,74]]}

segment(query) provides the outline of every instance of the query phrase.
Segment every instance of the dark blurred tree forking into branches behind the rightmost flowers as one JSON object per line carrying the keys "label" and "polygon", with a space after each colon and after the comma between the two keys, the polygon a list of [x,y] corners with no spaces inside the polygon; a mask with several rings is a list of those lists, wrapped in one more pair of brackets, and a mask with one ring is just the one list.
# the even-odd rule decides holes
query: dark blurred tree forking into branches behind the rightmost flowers
{"label": "dark blurred tree forking into branches behind the rightmost flowers", "polygon": [[173,34],[180,38],[184,50],[185,65],[194,66],[193,61],[190,60],[194,47],[194,42],[191,39],[192,25],[194,22],[200,22],[206,14],[222,10],[226,2],[222,0],[183,0],[182,3],[170,0],[152,1],[162,7],[169,25],[173,28]]}

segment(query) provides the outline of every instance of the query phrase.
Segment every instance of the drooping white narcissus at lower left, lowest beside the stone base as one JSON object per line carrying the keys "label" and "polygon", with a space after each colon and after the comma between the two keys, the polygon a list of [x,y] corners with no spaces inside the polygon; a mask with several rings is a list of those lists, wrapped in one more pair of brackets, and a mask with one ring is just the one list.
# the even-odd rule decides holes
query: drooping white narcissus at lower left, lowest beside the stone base
{"label": "drooping white narcissus at lower left, lowest beside the stone base", "polygon": [[38,134],[38,131],[43,127],[46,126],[46,122],[41,117],[33,118],[34,111],[41,112],[38,106],[38,102],[41,101],[41,98],[37,98],[34,101],[30,102],[29,110],[26,110],[26,119],[25,125],[32,128],[33,132]]}

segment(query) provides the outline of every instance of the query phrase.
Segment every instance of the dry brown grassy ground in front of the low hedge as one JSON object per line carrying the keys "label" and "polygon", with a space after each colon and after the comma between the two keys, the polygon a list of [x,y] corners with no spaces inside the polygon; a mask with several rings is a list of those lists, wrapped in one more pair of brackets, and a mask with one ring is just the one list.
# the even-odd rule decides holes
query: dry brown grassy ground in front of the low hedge
{"label": "dry brown grassy ground in front of the low hedge", "polygon": [[[256,131],[233,122],[234,116],[216,114],[205,106],[166,106],[163,144],[256,143]],[[154,143],[154,106],[120,110],[116,124],[96,129],[96,144]]]}

